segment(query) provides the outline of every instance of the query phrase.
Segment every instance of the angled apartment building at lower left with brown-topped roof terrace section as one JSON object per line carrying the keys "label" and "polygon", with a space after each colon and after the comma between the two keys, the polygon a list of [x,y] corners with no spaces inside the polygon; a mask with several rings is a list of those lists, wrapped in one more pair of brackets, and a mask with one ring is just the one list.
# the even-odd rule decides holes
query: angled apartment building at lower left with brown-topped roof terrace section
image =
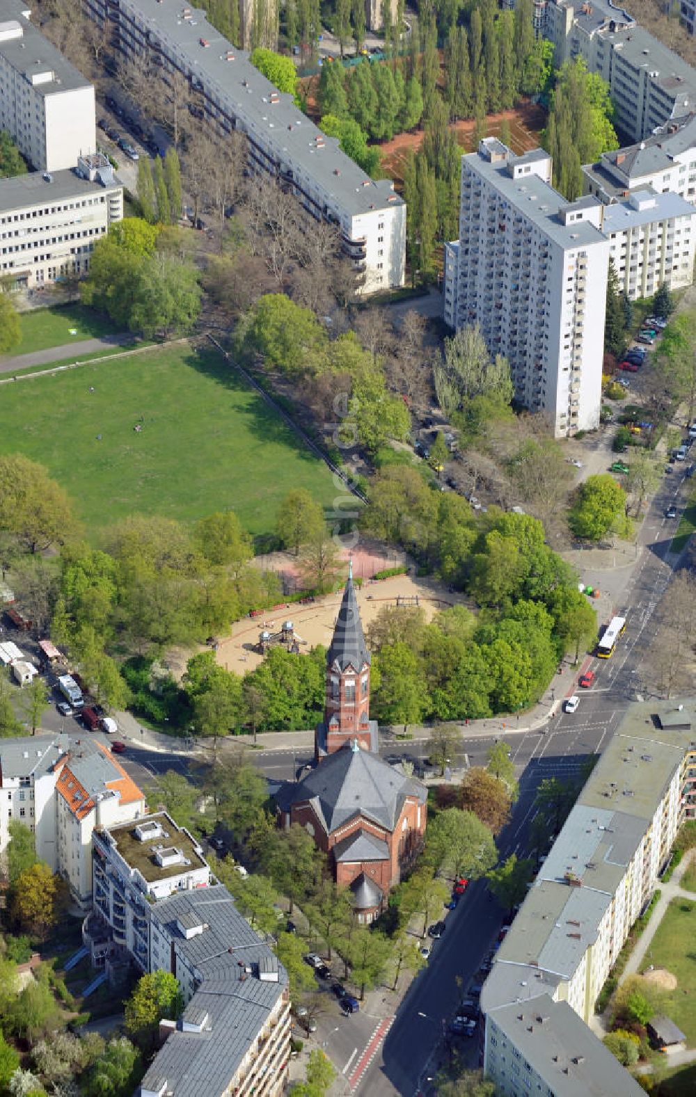
{"label": "angled apartment building at lower left with brown-topped roof terrace section", "polygon": [[93,835],[94,909],[83,926],[92,961],[130,957],[179,980],[184,1011],[142,1097],[276,1097],[290,1058],[288,976],[214,882],[200,846],[165,813]]}

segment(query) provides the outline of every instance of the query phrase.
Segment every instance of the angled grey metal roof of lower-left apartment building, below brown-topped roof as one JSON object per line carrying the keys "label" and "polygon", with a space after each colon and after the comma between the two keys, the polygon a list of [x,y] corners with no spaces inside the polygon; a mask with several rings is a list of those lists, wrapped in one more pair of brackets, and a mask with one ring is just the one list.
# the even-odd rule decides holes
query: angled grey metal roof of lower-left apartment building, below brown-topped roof
{"label": "angled grey metal roof of lower-left apartment building, below brown-topped roof", "polygon": [[[284,993],[287,972],[222,884],[161,900],[153,906],[150,917],[155,925],[166,927],[177,951],[186,955],[201,980],[184,1019],[202,1025],[202,1031],[178,1028],[172,1032],[143,1078],[142,1088],[158,1092],[166,1081],[176,1097],[217,1097],[227,1089]],[[198,923],[203,932],[187,940],[178,921]],[[278,981],[260,980],[259,969],[267,975],[277,971]]]}

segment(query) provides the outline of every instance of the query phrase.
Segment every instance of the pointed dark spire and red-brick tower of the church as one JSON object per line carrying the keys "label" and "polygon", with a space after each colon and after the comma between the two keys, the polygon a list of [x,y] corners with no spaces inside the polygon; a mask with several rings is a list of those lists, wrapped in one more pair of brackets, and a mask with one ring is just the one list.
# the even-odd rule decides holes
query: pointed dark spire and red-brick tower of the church
{"label": "pointed dark spire and red-brick tower of the church", "polygon": [[324,723],[316,730],[317,760],[347,744],[377,749],[377,727],[370,720],[370,652],[364,642],[352,581],[352,561],[326,657]]}

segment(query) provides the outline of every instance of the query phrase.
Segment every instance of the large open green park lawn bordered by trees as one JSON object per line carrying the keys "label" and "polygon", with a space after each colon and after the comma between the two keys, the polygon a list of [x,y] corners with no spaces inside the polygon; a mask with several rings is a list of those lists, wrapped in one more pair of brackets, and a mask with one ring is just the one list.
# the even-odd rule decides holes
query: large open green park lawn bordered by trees
{"label": "large open green park lawn bordered by trees", "polygon": [[268,533],[291,488],[326,507],[337,495],[323,462],[212,350],[162,347],[0,392],[0,452],[44,464],[91,538],[127,514],[216,510]]}

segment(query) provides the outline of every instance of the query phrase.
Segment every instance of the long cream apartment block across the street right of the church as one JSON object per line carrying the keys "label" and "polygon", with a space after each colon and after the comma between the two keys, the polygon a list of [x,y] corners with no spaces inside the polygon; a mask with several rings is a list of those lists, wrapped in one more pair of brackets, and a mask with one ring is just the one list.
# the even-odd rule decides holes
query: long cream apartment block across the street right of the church
{"label": "long cream apartment block across the street right of the church", "polygon": [[[501,1093],[518,1092],[510,1086],[510,1066],[519,1063],[519,1054],[549,1086],[554,1070],[545,1041],[523,1037],[514,1010],[532,1030],[543,1028],[532,1013],[549,1016],[551,1031],[564,1018],[566,1032],[557,1053],[565,1065],[579,1041],[592,1044],[585,1059],[600,1061],[599,1042],[586,1028],[595,1002],[650,901],[681,822],[695,814],[696,705],[632,705],[553,844],[483,987],[485,1063]],[[501,1060],[501,1029],[519,1052],[512,1051],[506,1061]],[[571,1070],[569,1077],[574,1076]],[[559,1095],[580,1092],[568,1078],[551,1088]]]}

